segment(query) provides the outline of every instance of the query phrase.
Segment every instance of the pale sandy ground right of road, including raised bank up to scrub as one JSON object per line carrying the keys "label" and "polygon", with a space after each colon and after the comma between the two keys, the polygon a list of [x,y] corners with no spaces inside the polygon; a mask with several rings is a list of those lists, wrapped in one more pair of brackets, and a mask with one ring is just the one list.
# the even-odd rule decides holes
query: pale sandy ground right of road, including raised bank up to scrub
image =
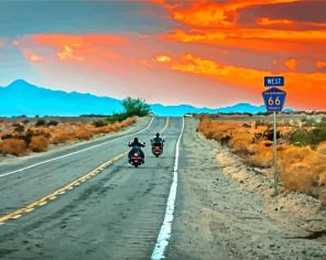
{"label": "pale sandy ground right of road, including raised bank up to scrub", "polygon": [[167,259],[326,259],[326,212],[281,193],[186,119]]}

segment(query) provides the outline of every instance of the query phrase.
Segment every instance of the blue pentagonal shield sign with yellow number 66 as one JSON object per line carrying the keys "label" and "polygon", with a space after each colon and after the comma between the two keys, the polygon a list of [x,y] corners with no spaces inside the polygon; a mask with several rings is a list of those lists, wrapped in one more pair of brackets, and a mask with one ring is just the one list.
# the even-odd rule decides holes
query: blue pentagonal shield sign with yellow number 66
{"label": "blue pentagonal shield sign with yellow number 66", "polygon": [[286,93],[282,89],[273,87],[264,90],[262,93],[262,97],[269,112],[279,112],[283,109]]}

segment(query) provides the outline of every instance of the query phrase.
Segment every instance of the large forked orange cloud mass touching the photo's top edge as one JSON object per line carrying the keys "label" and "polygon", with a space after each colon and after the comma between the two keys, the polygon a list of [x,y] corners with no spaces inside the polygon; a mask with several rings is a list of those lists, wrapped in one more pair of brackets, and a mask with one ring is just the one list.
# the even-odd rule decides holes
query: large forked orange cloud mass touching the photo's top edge
{"label": "large forked orange cloud mass touching the photo's top edge", "polygon": [[175,21],[188,25],[185,29],[172,30],[164,36],[181,43],[211,44],[258,52],[275,51],[296,54],[326,52],[326,24],[323,22],[300,22],[263,17],[256,18],[251,26],[239,24],[238,17],[244,9],[300,1],[192,1],[180,4],[161,1]]}

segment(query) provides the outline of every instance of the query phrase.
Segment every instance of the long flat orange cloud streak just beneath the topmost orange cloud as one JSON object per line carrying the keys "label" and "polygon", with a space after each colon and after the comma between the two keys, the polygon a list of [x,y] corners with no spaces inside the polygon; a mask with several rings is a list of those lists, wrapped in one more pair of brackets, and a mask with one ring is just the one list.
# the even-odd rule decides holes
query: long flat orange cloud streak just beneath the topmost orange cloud
{"label": "long flat orange cloud streak just beneath the topmost orange cloud", "polygon": [[163,35],[181,43],[209,44],[226,48],[250,50],[256,52],[326,53],[326,31],[289,32],[279,30],[239,29],[238,31],[206,32],[176,30]]}

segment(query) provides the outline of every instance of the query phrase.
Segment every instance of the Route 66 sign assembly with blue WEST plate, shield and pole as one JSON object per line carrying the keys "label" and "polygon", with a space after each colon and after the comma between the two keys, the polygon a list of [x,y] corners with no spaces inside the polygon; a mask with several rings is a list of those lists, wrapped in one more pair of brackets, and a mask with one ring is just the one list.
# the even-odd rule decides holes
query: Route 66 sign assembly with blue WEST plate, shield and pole
{"label": "Route 66 sign assembly with blue WEST plate, shield and pole", "polygon": [[264,77],[264,86],[272,87],[262,93],[262,97],[269,112],[273,112],[273,161],[274,161],[274,195],[279,194],[279,175],[278,175],[278,140],[276,140],[276,112],[282,111],[286,93],[275,86],[284,86],[283,76]]}

